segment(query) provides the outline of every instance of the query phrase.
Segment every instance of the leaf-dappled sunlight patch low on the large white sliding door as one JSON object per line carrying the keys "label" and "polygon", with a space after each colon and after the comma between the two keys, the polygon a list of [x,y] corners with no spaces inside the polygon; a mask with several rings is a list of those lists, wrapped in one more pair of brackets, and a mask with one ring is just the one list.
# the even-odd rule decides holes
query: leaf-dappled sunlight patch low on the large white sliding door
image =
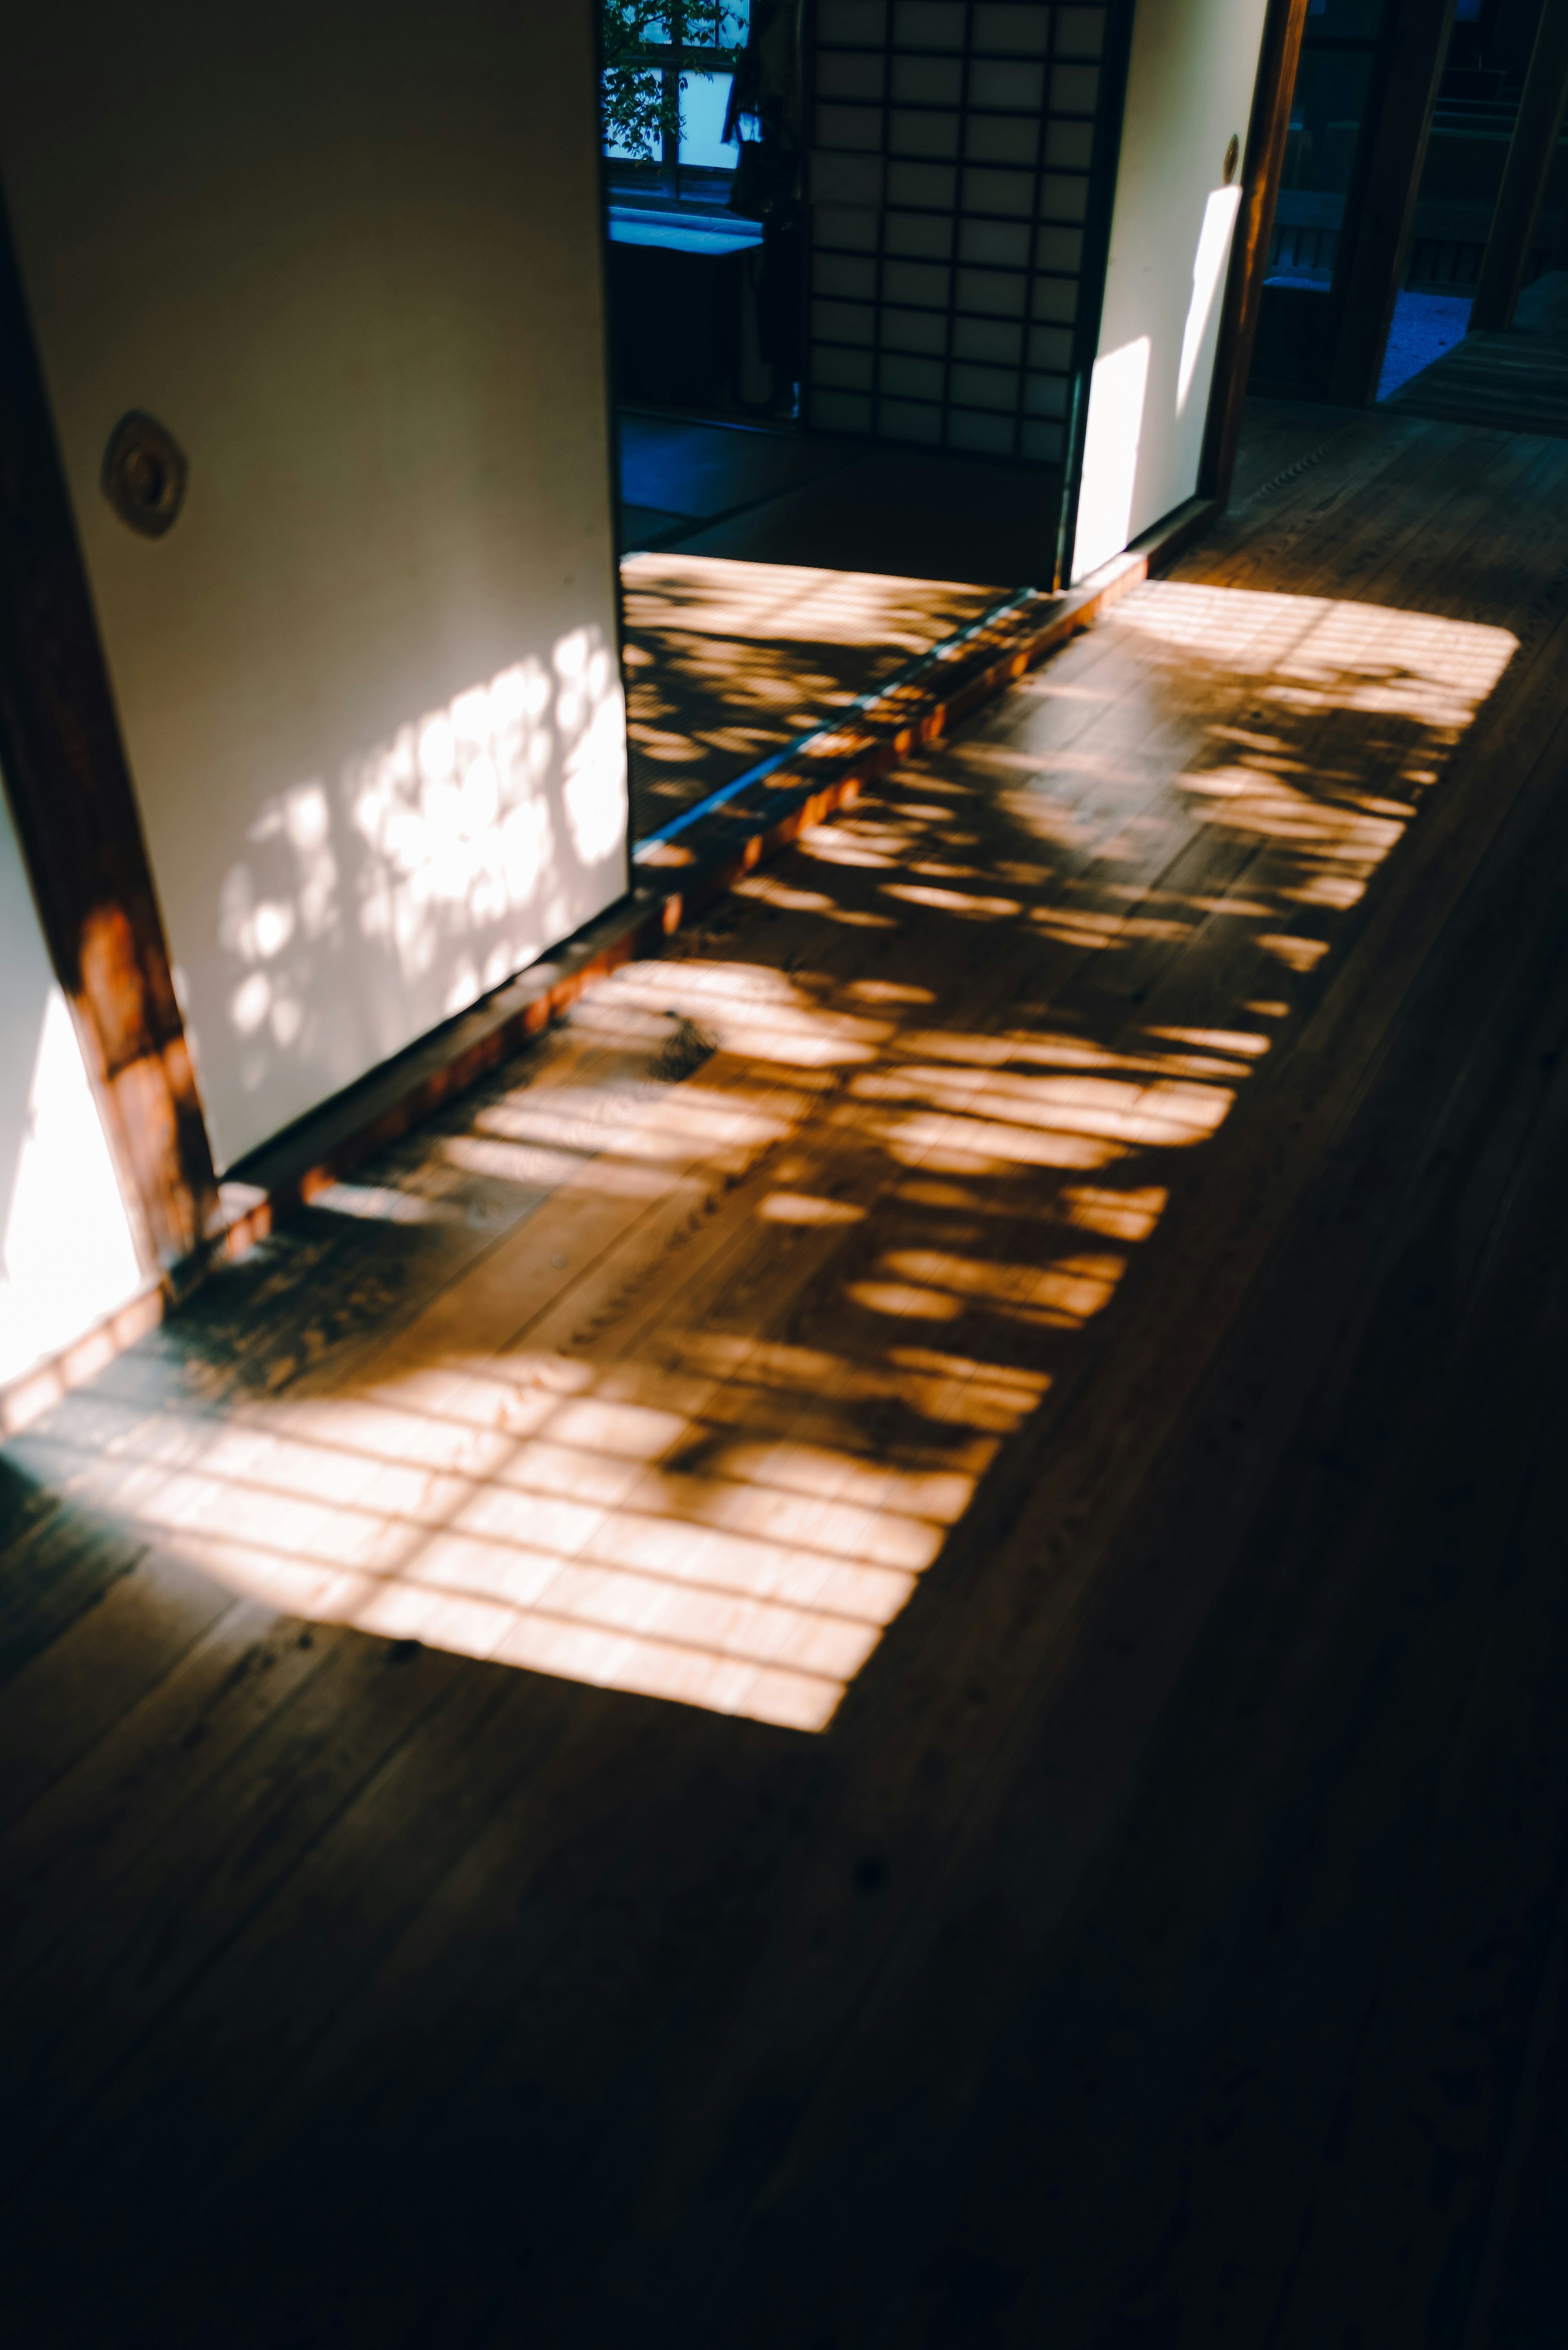
{"label": "leaf-dappled sunlight patch low on the large white sliding door", "polygon": [[381,1020],[374,1046],[395,1050],[411,1022],[451,1018],[531,964],[616,895],[625,822],[625,710],[597,625],[280,792],[223,881],[223,1048],[212,1015],[195,1022],[219,1135],[254,1130],[226,1100],[230,1072],[280,1126],[353,1074],[355,1022]]}

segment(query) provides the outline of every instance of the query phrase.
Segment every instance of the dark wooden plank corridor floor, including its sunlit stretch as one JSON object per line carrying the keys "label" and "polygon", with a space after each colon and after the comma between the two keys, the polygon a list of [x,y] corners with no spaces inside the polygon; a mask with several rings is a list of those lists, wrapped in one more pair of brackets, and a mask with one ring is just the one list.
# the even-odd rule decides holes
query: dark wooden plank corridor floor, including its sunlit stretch
{"label": "dark wooden plank corridor floor, including its sunlit stretch", "polygon": [[1568,444],[1269,432],[12,1445],[9,2341],[1563,2341]]}

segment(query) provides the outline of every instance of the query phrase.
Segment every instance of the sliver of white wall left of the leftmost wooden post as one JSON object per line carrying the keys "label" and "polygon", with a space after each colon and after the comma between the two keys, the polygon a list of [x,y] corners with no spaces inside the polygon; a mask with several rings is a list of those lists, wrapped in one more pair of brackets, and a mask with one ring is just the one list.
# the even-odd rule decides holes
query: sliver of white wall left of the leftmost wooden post
{"label": "sliver of white wall left of the leftmost wooden post", "polygon": [[139,1288],[108,1142],[0,792],[0,1384]]}

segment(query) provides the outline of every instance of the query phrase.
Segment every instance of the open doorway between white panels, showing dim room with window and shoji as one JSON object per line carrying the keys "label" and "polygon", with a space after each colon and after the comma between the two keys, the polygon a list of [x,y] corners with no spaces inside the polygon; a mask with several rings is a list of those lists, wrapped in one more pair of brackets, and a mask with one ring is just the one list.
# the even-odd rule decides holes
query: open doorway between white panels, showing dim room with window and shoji
{"label": "open doorway between white panels, showing dim room with window and shoji", "polygon": [[1056,583],[1107,12],[599,7],[646,841]]}

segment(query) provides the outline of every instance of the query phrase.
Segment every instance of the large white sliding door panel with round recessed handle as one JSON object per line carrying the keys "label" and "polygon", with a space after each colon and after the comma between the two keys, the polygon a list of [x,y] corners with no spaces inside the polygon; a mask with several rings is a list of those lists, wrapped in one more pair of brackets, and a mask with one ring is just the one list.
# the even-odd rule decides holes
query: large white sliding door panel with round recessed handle
{"label": "large white sliding door panel with round recessed handle", "polygon": [[[0,174],[219,1163],[625,888],[590,0],[54,0]],[[127,409],[190,461],[106,505]]]}

